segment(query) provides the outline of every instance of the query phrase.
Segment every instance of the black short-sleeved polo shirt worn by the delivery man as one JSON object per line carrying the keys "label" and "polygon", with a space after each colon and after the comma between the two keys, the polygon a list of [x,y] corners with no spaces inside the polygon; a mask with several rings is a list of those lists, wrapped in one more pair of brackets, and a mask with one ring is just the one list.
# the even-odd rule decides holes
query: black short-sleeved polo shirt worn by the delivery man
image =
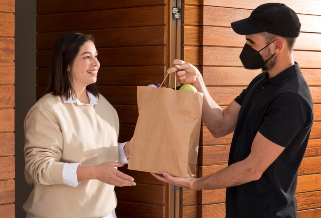
{"label": "black short-sleeved polo shirt worn by the delivery man", "polygon": [[298,64],[272,78],[259,74],[235,102],[241,108],[229,165],[250,154],[258,131],[285,150],[259,180],[227,188],[226,217],[296,217],[297,170],[313,123],[311,93]]}

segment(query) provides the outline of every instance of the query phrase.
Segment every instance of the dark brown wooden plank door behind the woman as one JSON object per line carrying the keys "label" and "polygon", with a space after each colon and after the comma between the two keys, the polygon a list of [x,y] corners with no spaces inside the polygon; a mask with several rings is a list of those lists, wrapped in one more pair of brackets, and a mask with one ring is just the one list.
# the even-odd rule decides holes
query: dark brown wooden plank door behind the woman
{"label": "dark brown wooden plank door behind the woman", "polygon": [[[94,35],[98,90],[118,112],[119,142],[129,141],[138,117],[136,86],[163,81],[167,69],[167,1],[37,1],[37,98],[48,84],[48,65],[56,39],[69,32]],[[164,183],[150,173],[132,175],[135,187],[115,188],[117,217],[164,217]]]}

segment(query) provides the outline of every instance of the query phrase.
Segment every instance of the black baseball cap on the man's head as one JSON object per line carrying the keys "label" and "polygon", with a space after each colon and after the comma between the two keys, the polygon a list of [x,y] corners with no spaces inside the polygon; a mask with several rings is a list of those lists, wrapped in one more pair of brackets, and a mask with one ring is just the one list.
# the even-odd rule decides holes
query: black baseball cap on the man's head
{"label": "black baseball cap on the man's head", "polygon": [[300,34],[300,21],[296,13],[280,3],[267,3],[255,8],[248,18],[231,23],[240,35],[269,32],[275,35],[296,38]]}

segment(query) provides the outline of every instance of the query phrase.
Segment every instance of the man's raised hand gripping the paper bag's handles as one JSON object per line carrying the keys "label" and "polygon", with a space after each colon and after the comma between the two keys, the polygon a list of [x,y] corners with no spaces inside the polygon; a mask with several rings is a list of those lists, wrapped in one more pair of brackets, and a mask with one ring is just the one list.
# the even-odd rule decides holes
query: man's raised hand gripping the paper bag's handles
{"label": "man's raised hand gripping the paper bag's handles", "polygon": [[177,72],[176,78],[179,83],[193,84],[195,83],[197,76],[200,75],[198,69],[190,63],[175,59],[173,64],[174,67],[168,68],[167,72]]}

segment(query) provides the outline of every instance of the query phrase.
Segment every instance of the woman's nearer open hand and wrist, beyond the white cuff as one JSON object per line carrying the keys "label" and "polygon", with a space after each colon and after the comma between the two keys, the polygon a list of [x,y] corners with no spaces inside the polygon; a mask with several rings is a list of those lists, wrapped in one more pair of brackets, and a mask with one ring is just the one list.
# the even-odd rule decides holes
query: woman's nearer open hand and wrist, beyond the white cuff
{"label": "woman's nearer open hand and wrist, beyond the white cuff", "polygon": [[77,179],[78,182],[94,179],[113,186],[135,186],[133,177],[115,168],[123,166],[124,164],[118,162],[107,162],[95,166],[79,165]]}

